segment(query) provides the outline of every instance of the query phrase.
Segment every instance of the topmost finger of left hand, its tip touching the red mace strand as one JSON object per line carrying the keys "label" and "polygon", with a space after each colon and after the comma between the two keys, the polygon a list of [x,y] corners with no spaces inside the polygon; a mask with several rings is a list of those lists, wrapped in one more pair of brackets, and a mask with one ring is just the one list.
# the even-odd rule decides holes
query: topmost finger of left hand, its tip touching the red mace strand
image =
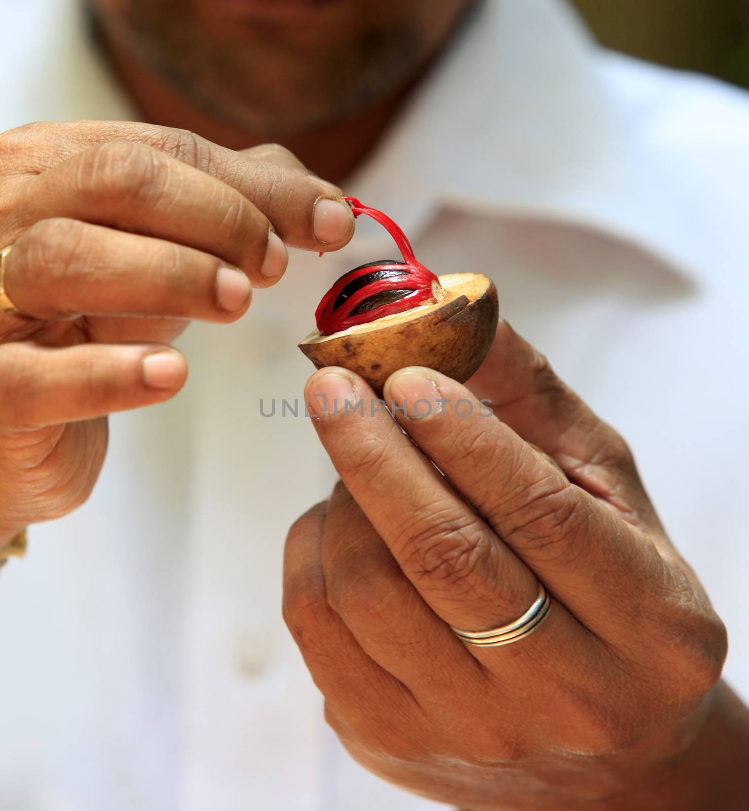
{"label": "topmost finger of left hand, its tip touching the red mace strand", "polygon": [[187,130],[139,122],[39,122],[2,135],[19,172],[40,173],[109,141],[146,144],[240,191],[290,246],[336,251],[353,236],[353,214],[335,187],[290,165],[220,147]]}

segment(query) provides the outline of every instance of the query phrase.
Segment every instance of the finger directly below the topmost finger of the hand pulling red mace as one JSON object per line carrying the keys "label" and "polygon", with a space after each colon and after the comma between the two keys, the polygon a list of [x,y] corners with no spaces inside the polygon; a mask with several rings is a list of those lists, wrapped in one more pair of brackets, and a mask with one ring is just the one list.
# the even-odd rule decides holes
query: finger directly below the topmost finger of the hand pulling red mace
{"label": "finger directly below the topmost finger of the hand pulling red mace", "polygon": [[275,284],[288,263],[267,217],[244,195],[143,144],[111,142],[54,166],[27,182],[19,208],[28,225],[70,217],[206,251],[257,287]]}

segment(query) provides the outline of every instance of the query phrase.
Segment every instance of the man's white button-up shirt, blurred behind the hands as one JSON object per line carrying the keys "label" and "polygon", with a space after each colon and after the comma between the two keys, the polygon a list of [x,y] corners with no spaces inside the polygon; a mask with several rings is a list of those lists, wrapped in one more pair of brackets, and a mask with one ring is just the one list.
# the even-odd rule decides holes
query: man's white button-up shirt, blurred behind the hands
{"label": "man's white button-up shirt, blurred behind the hands", "polygon": [[[132,117],[73,5],[3,0],[0,130]],[[435,272],[493,277],[627,438],[745,696],[747,143],[743,92],[607,54],[558,0],[489,0],[346,184]],[[334,478],[278,414],[312,371],[295,343],[341,272],[392,250],[360,221],[340,254],[294,251],[238,324],[192,326],[183,393],[113,417],[88,504],[32,528],[0,579],[3,809],[435,807],[350,760],[280,618],[286,530]]]}

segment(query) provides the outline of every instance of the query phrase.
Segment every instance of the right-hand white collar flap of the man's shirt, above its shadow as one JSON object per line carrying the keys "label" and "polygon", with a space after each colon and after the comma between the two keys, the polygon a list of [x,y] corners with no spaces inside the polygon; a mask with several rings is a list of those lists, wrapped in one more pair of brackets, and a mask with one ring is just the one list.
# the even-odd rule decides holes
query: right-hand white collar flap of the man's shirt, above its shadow
{"label": "right-hand white collar flap of the man's shirt, above its shadow", "polygon": [[444,207],[567,222],[693,280],[704,246],[678,178],[603,61],[560,0],[483,2],[346,188],[414,239]]}

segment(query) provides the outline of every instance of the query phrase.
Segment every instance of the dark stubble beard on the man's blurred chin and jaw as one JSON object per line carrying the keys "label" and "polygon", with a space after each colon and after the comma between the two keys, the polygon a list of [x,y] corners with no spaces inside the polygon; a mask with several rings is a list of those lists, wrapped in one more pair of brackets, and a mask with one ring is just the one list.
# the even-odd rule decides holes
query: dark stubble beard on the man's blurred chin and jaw
{"label": "dark stubble beard on the man's blurred chin and jaw", "polygon": [[203,114],[274,134],[312,131],[374,104],[407,84],[423,58],[417,28],[405,21],[330,49],[287,34],[263,26],[214,37],[161,3],[132,0],[126,37]]}

